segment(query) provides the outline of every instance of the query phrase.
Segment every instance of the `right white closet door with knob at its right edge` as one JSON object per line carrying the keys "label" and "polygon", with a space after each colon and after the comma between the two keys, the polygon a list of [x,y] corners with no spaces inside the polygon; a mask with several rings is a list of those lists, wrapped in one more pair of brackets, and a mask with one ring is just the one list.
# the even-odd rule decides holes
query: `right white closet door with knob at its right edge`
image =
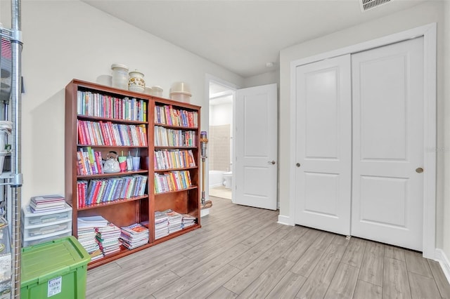
{"label": "right white closet door with knob at its right edge", "polygon": [[423,38],[352,55],[352,86],[352,235],[421,251]]}

